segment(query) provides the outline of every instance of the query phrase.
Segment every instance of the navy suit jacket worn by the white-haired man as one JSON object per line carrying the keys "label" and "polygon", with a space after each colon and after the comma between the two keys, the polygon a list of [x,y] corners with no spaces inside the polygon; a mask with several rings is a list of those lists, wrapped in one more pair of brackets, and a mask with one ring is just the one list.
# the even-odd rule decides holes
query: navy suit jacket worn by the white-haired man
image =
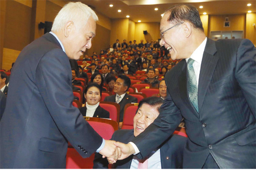
{"label": "navy suit jacket worn by the white-haired man", "polygon": [[101,146],[72,106],[71,81],[69,59],[52,34],[20,52],[0,123],[1,168],[65,168],[68,141],[84,158]]}

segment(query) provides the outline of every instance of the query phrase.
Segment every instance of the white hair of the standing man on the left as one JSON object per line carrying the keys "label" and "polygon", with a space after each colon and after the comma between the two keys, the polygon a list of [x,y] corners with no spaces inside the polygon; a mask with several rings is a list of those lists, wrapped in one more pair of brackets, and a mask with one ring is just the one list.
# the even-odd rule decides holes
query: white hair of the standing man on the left
{"label": "white hair of the standing man on the left", "polygon": [[69,2],[62,7],[55,17],[52,31],[58,32],[60,29],[64,28],[68,21],[72,21],[78,27],[85,26],[90,16],[92,16],[95,21],[98,21],[96,13],[84,3]]}

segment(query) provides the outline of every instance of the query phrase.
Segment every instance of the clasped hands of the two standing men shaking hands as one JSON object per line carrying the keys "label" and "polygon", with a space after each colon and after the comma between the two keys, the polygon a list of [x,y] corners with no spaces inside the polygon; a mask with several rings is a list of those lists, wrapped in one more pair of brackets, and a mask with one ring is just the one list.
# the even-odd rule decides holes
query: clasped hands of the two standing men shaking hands
{"label": "clasped hands of the two standing men shaking hands", "polygon": [[116,141],[105,140],[105,146],[99,151],[103,158],[107,157],[108,163],[116,163],[117,160],[122,160],[135,153],[131,144],[123,144]]}

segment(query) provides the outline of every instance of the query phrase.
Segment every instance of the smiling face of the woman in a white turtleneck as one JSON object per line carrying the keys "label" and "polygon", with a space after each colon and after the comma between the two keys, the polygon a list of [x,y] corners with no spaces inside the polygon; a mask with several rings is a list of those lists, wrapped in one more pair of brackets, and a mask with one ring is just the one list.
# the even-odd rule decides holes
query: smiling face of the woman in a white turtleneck
{"label": "smiling face of the woman in a white turtleneck", "polygon": [[96,87],[90,87],[85,94],[86,101],[89,105],[96,105],[100,100],[100,90]]}

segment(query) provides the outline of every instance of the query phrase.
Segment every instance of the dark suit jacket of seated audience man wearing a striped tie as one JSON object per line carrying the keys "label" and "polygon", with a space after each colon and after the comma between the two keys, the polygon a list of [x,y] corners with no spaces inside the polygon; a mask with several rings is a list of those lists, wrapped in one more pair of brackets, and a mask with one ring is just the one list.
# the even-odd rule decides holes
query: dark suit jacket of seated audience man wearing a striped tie
{"label": "dark suit jacket of seated audience man wearing a striped tie", "polygon": [[[115,96],[116,95],[107,96],[105,97],[104,101],[115,102]],[[138,103],[138,99],[125,93],[124,98],[118,103],[120,105],[120,122],[123,121],[125,105],[128,103]]]}

